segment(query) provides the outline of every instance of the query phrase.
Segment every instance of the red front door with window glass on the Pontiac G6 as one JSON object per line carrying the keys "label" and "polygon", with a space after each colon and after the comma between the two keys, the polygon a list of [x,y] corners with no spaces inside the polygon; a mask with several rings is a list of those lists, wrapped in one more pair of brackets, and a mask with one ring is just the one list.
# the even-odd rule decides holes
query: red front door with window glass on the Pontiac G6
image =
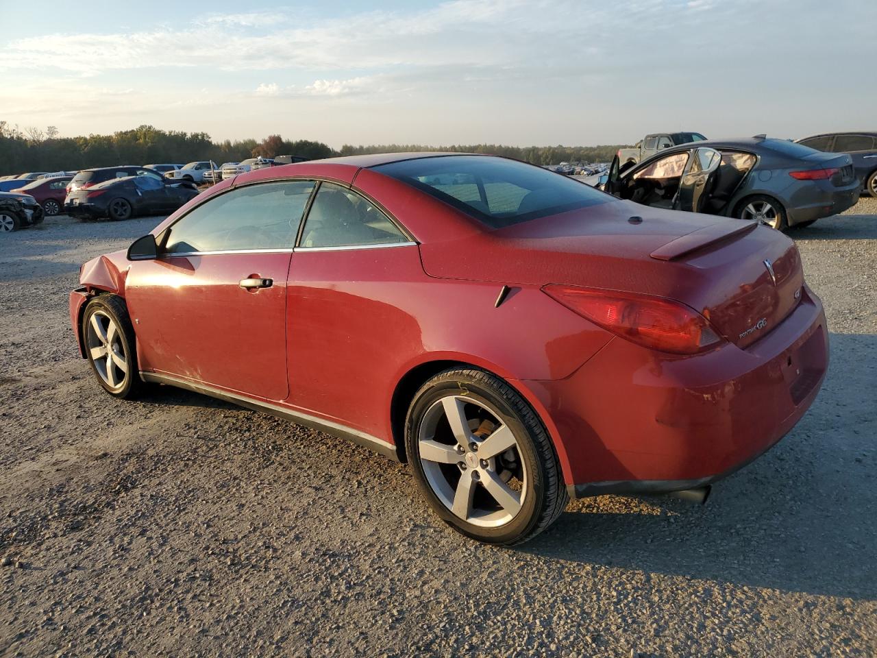
{"label": "red front door with window glass on the Pontiac G6", "polygon": [[310,181],[227,190],[134,261],[125,297],[141,370],[264,400],[289,393],[287,275]]}

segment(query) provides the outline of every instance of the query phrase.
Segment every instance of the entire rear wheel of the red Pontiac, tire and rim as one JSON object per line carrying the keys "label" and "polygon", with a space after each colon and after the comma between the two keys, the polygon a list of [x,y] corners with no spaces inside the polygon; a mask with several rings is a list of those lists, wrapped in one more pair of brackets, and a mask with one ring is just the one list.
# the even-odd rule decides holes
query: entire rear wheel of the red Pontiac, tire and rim
{"label": "entire rear wheel of the red Pontiac, tire and rim", "polygon": [[516,390],[484,371],[455,368],[425,383],[408,411],[405,445],[432,509],[473,539],[521,543],[567,506],[542,423]]}

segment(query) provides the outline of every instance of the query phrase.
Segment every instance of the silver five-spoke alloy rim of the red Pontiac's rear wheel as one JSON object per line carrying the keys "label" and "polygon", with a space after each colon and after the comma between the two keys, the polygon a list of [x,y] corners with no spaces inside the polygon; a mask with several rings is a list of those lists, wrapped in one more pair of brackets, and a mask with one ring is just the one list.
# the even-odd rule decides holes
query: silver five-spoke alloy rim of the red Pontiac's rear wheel
{"label": "silver five-spoke alloy rim of the red Pontiac's rear wheel", "polygon": [[431,489],[459,519],[499,527],[521,510],[529,477],[515,434],[499,413],[472,397],[441,397],[417,437]]}

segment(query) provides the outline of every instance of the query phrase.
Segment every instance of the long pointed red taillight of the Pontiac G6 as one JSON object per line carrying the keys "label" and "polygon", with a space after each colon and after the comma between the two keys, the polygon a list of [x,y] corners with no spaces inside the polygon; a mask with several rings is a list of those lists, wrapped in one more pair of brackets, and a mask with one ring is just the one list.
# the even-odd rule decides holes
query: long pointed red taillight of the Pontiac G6
{"label": "long pointed red taillight of the Pontiac G6", "polygon": [[664,297],[566,285],[542,290],[603,329],[661,352],[697,354],[723,340],[700,313]]}

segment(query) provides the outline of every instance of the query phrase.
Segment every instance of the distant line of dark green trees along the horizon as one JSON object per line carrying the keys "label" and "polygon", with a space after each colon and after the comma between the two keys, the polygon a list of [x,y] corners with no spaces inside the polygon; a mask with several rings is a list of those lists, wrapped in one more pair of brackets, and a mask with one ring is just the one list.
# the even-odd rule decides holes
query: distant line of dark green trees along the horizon
{"label": "distant line of dark green trees along the horizon", "polygon": [[323,142],[309,139],[289,141],[280,135],[266,139],[238,139],[215,142],[206,132],[165,131],[152,125],[111,135],[61,137],[57,128],[46,130],[8,125],[0,121],[0,175],[26,171],[77,171],[82,168],[112,167],[119,164],[185,163],[212,160],[239,162],[261,155],[300,155],[316,160],[333,155],[373,154],[411,151],[448,151],[496,154],[538,165],[567,162],[609,161],[618,146],[602,147],[507,147],[495,144],[431,147],[419,144],[353,146],[335,151]]}

